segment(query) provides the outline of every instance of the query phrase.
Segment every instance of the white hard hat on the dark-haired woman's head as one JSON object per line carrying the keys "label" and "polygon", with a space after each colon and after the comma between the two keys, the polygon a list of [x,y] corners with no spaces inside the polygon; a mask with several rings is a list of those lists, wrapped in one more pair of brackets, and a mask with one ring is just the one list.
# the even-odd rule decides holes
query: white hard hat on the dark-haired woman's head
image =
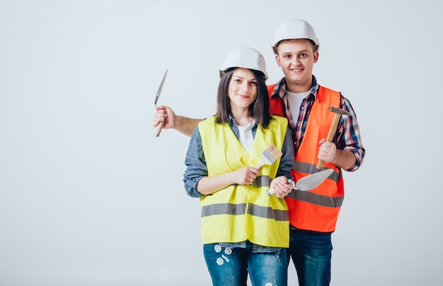
{"label": "white hard hat on the dark-haired woman's head", "polygon": [[267,80],[266,63],[263,55],[251,47],[235,48],[224,58],[220,67],[220,77],[228,68],[249,68],[261,71]]}

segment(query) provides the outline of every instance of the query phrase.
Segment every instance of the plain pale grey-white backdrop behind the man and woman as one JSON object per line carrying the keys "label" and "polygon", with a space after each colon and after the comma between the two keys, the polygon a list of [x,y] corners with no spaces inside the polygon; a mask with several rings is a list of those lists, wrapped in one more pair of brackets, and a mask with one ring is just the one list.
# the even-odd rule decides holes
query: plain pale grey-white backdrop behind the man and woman
{"label": "plain pale grey-white backdrop behind the man and woman", "polygon": [[[0,285],[209,285],[189,138],[154,138],[154,95],[215,112],[218,68],[305,18],[318,82],[367,148],[345,173],[331,285],[442,285],[438,1],[0,0]],[[291,265],[289,282],[297,285]]]}

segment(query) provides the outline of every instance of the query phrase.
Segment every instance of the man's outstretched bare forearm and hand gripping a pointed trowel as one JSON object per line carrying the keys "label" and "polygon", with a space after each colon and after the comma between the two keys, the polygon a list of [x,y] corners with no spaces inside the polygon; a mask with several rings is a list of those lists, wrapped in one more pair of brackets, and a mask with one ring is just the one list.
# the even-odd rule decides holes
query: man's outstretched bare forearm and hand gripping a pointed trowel
{"label": "man's outstretched bare forearm and hand gripping a pointed trowel", "polygon": [[154,124],[157,126],[160,121],[163,121],[163,129],[175,129],[186,136],[191,136],[197,124],[203,119],[193,119],[189,117],[183,117],[176,115],[171,107],[161,105],[156,107],[156,113],[154,114]]}

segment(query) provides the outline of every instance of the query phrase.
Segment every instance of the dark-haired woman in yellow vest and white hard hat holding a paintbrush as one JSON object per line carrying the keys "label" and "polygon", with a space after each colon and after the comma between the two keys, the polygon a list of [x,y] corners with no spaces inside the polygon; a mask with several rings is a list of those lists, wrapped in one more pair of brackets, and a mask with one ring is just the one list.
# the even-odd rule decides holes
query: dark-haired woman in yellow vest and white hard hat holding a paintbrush
{"label": "dark-haired woman in yellow vest and white hard hat holding a paintbrush", "polygon": [[[294,151],[287,119],[271,116],[265,59],[255,49],[232,50],[220,69],[217,114],[190,139],[183,181],[202,205],[202,242],[213,285],[287,285],[289,193]],[[270,144],[282,150],[257,168]]]}

